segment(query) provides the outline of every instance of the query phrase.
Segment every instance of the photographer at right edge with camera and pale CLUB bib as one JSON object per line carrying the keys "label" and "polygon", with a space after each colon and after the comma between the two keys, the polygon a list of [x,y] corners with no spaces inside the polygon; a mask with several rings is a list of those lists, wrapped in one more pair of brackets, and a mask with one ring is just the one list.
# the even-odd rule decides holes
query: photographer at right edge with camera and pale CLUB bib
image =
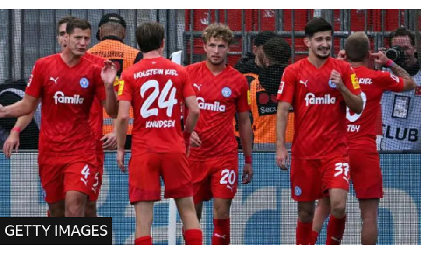
{"label": "photographer at right edge with camera and pale CLUB bib", "polygon": [[[417,87],[407,92],[385,92],[382,97],[383,138],[380,150],[421,150],[421,71],[415,36],[406,28],[390,34],[387,57],[405,69]],[[385,66],[391,68],[392,66]],[[399,75],[399,73],[396,73]]]}

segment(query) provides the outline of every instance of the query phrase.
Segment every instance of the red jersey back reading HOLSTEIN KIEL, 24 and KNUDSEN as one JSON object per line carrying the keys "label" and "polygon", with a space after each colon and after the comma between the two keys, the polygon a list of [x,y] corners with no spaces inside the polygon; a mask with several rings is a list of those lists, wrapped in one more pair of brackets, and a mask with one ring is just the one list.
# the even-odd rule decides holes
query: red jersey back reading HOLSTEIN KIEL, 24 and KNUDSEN
{"label": "red jersey back reading HOLSTEIN KIEL, 24 and KNUDSEN", "polygon": [[142,59],[123,71],[119,101],[133,106],[132,155],[185,153],[180,104],[193,95],[185,69],[163,57]]}

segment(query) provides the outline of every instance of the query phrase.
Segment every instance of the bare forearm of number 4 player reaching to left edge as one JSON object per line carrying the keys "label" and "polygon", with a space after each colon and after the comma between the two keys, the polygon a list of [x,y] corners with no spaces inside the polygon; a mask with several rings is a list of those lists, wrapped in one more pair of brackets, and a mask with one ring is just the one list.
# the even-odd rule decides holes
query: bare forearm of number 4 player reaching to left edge
{"label": "bare forearm of number 4 player reaching to left edge", "polygon": [[0,116],[1,118],[20,118],[22,115],[29,115],[35,110],[37,103],[38,98],[25,94],[21,101],[0,108]]}

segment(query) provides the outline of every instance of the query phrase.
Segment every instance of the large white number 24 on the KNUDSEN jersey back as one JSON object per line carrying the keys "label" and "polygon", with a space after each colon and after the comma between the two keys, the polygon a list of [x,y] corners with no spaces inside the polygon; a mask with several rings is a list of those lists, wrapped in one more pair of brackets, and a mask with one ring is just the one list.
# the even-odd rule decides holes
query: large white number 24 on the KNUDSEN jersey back
{"label": "large white number 24 on the KNUDSEN jersey back", "polygon": [[[175,92],[177,92],[177,89],[173,87],[173,81],[171,79],[168,80],[165,87],[163,87],[163,90],[160,92],[158,80],[148,80],[142,85],[142,87],[140,87],[140,96],[142,96],[142,98],[145,98],[145,92],[149,90],[149,88],[153,88],[154,91],[149,95],[149,97],[147,97],[145,103],[142,105],[142,108],[140,108],[140,115],[142,115],[142,118],[149,118],[151,115],[158,115],[158,108],[150,108],[158,96],[159,108],[167,108],[166,114],[171,118],[173,115],[173,106],[178,103],[177,99],[175,99]],[[166,97],[168,96],[170,90],[171,94],[168,97],[168,101],[166,101]]]}

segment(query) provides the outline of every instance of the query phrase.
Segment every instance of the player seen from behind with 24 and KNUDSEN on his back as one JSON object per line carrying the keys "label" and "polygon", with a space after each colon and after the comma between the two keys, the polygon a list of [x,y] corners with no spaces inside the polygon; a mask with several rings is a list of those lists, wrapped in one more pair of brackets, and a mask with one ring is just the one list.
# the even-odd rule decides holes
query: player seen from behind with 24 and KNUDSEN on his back
{"label": "player seen from behind with 24 and KNUDSEN on his back", "polygon": [[[201,244],[186,156],[190,135],[199,119],[199,106],[185,69],[162,57],[164,34],[157,22],[144,23],[136,30],[144,59],[121,74],[117,163],[126,171],[124,143],[132,105],[135,120],[128,179],[129,198],[136,213],[135,244],[152,244],[154,202],[161,199],[160,177],[165,184],[164,197],[174,198],[179,209],[186,244]],[[180,121],[182,103],[189,108],[184,132]]]}

